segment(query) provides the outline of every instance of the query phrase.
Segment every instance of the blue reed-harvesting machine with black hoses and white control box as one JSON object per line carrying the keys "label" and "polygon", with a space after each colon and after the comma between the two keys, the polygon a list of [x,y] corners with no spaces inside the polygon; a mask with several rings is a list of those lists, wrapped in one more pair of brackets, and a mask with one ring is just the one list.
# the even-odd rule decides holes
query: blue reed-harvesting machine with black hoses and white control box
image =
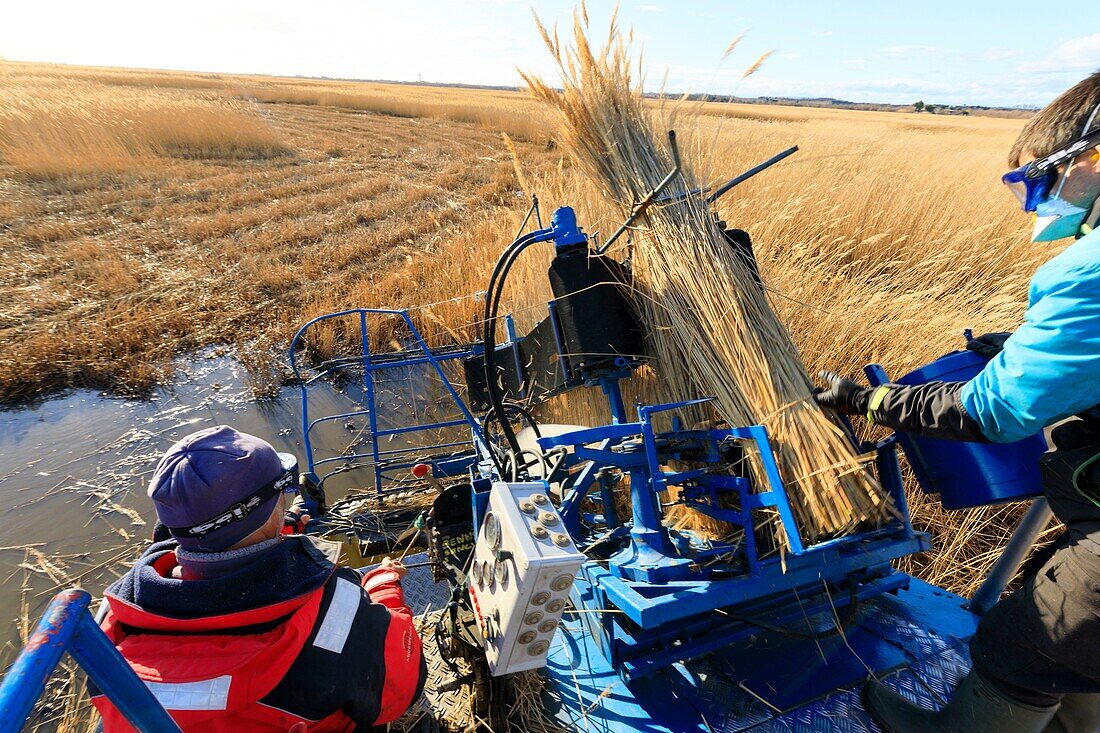
{"label": "blue reed-harvesting machine with black hoses and white control box", "polygon": [[[659,199],[660,188],[610,240],[648,206],[680,200]],[[498,314],[501,293],[520,252],[541,242],[554,248],[554,297],[519,336]],[[762,426],[702,419],[701,395],[627,406],[623,382],[644,348],[623,289],[629,270],[604,254],[609,243],[594,245],[572,209],[559,208],[505,251],[481,296],[483,332],[470,342],[439,346],[415,309],[364,308],[311,320],[292,343],[302,491],[327,510],[314,529],[332,537],[343,527],[363,562],[427,543],[406,590],[416,614],[436,619],[425,649],[443,679],[429,683],[429,708],[432,696],[470,686],[474,714],[509,730],[509,685],[527,670],[544,680],[546,718],[578,731],[876,731],[859,697],[870,676],[942,705],[969,669],[981,613],[1049,513],[1033,502],[972,599],[931,586],[894,567],[932,549],[910,522],[899,447],[923,491],[964,508],[1040,496],[1027,457],[1042,451],[1042,436],[1008,450],[895,435],[866,442],[838,423],[889,495],[891,518],[804,537]],[[319,343],[346,355],[316,358]],[[381,343],[391,346],[372,348]],[[900,381],[980,369],[957,352]],[[878,366],[867,373],[887,381]],[[331,408],[333,385],[346,409]],[[531,414],[584,390],[603,395],[606,424],[547,425]],[[354,437],[326,453],[316,447],[326,430]],[[366,492],[324,506],[327,494],[364,483]],[[437,494],[418,504],[428,510],[404,508],[426,491]],[[714,529],[678,523],[686,513]],[[387,522],[411,532],[395,539]],[[176,730],[113,647],[96,641],[87,602],[72,591],[55,600],[3,680],[0,733],[19,730],[66,649],[139,730]]]}

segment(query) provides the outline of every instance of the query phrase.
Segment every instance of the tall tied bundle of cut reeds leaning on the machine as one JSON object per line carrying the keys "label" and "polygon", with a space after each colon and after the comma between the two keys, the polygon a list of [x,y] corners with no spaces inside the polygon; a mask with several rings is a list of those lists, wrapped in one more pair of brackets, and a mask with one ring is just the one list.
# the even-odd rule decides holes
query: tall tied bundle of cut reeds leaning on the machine
{"label": "tall tied bundle of cut reeds leaning on the machine", "polygon": [[[539,24],[561,70],[561,89],[525,75],[535,96],[557,110],[558,141],[624,217],[671,169],[654,134],[652,106],[631,75],[627,42],[614,21],[594,52],[582,6],[572,47]],[[666,192],[701,185],[692,161]],[[850,442],[811,398],[798,349],[700,196],[650,207],[632,231],[635,299],[653,366],[668,392],[716,398],[734,425],[762,424],[794,506],[800,534],[814,540],[873,524],[890,512],[887,495]]]}

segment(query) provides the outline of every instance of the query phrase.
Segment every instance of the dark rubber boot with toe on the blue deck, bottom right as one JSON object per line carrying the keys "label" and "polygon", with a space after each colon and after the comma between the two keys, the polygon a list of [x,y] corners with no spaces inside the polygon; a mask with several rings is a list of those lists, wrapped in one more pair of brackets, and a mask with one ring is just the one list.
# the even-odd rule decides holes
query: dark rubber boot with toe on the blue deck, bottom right
{"label": "dark rubber boot with toe on the blue deck, bottom right", "polygon": [[864,708],[886,733],[1043,733],[1057,710],[1011,700],[972,671],[939,712],[914,705],[878,680],[864,686]]}

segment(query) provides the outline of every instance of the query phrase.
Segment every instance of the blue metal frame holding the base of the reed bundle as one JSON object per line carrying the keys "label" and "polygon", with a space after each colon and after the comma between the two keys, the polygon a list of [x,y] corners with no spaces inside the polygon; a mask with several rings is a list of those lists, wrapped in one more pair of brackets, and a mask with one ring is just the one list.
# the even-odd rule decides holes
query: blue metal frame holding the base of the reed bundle
{"label": "blue metal frame holding the base of the reed bundle", "polygon": [[[762,426],[684,430],[673,419],[671,433],[657,433],[653,424],[657,414],[707,400],[638,405],[638,419],[627,423],[619,419],[618,379],[615,375],[598,381],[616,415],[613,424],[543,437],[539,444],[543,449],[570,447],[574,462],[588,461],[561,502],[565,525],[582,547],[588,539],[582,519],[603,519],[607,534],[596,541],[605,541],[608,536],[627,536],[626,528],[618,526],[603,481],[597,482],[597,478],[605,477],[604,469],[608,468],[630,477],[629,541],[606,561],[586,562],[573,597],[576,606],[590,616],[585,622],[597,646],[624,679],[636,679],[695,658],[759,631],[738,617],[796,622],[806,614],[908,587],[909,576],[894,571],[890,561],[927,550],[931,541],[928,535],[914,532],[910,522],[892,437],[864,449],[877,451],[879,479],[894,501],[897,518],[877,529],[806,545]],[[625,445],[638,444],[639,439],[640,445]],[[758,485],[747,478],[712,473],[706,468],[688,471],[661,468],[668,459],[676,457],[675,449],[662,446],[688,444],[694,449],[695,462],[718,464],[719,447],[727,441],[755,447],[762,468]],[[593,444],[598,447],[590,447]],[[597,483],[602,495],[590,496]],[[658,502],[659,494],[670,485],[681,488],[683,504],[740,526],[744,533],[738,543],[691,547],[683,538],[673,538],[662,524],[662,507]],[[736,492],[737,508],[719,504],[722,492]],[[585,501],[603,504],[603,514],[584,515],[581,506]],[[754,512],[761,508],[778,513],[788,539],[785,555],[767,558],[760,555]],[[608,610],[622,615],[607,613]],[[732,610],[736,610],[733,616]]]}

